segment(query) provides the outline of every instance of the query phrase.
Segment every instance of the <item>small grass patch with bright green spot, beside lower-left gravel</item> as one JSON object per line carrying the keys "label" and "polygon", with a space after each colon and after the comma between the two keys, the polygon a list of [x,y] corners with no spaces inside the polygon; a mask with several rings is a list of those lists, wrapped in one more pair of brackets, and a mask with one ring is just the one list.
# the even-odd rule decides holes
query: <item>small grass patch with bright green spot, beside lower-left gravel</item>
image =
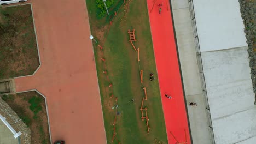
{"label": "small grass patch with bright green spot, beside lower-left gravel", "polygon": [[[44,97],[37,92],[4,95],[2,99],[13,109],[31,130],[31,142],[50,143],[48,118]],[[21,143],[24,143],[21,141]]]}

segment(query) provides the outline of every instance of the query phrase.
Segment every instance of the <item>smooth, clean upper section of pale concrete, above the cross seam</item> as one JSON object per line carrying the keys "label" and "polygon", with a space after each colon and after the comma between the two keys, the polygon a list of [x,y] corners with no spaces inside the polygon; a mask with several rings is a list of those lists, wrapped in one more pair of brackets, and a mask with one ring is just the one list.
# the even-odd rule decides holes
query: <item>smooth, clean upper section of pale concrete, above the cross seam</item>
{"label": "smooth, clean upper section of pale concrete, above the cross seam", "polygon": [[193,0],[201,52],[247,46],[238,0]]}

